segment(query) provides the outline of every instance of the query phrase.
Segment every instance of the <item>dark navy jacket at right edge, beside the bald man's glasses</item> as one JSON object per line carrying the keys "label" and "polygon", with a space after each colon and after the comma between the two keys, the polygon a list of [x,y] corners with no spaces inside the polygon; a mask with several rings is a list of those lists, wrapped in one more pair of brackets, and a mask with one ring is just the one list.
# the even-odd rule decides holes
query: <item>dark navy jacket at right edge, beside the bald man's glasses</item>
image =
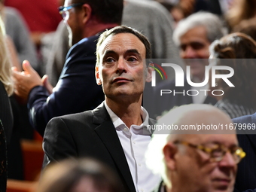
{"label": "dark navy jacket at right edge, beside the bald man's glasses", "polygon": [[[256,123],[256,113],[233,119],[234,123]],[[256,130],[253,131],[256,134]],[[239,131],[237,139],[245,151],[245,158],[238,164],[235,187],[239,191],[256,188],[256,135]]]}

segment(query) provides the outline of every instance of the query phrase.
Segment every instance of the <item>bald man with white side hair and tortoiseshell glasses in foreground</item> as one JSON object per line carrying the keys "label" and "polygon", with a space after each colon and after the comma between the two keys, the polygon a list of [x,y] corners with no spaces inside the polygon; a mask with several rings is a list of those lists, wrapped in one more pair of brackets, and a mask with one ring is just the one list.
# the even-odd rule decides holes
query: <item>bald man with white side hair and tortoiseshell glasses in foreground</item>
{"label": "bald man with white side hair and tortoiseshell glasses in foreground", "polygon": [[[173,124],[176,130],[155,130],[149,145],[147,164],[163,178],[155,191],[233,191],[237,163],[245,152],[239,148],[235,130],[221,129],[233,126],[227,114],[211,105],[183,105],[157,124]],[[161,167],[156,166],[161,162]]]}

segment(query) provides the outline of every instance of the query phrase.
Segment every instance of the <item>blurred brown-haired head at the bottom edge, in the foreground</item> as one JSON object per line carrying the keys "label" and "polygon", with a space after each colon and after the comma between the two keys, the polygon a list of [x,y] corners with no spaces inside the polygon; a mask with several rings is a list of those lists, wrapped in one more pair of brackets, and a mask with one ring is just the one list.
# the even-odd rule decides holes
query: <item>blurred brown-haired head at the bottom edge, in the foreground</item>
{"label": "blurred brown-haired head at the bottom edge, in the foreground", "polygon": [[121,192],[117,175],[93,159],[63,160],[44,170],[37,192]]}

